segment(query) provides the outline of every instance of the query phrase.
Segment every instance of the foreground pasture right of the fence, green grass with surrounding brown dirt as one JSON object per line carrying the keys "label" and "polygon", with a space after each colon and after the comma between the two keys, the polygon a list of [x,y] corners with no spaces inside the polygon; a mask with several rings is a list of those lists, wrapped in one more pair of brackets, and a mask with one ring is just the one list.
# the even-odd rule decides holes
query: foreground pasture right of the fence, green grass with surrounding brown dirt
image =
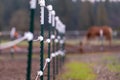
{"label": "foreground pasture right of the fence, green grass with surrounding brown dirt", "polygon": [[67,57],[59,80],[119,80],[120,54],[74,54]]}

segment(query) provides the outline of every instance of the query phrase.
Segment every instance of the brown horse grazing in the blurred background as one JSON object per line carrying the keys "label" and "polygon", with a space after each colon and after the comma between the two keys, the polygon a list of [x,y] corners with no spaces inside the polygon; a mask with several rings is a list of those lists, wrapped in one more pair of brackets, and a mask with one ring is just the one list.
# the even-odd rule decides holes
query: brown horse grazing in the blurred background
{"label": "brown horse grazing in the blurred background", "polygon": [[93,26],[90,27],[85,35],[83,42],[88,42],[88,40],[104,37],[107,41],[109,41],[109,44],[111,45],[112,41],[112,28],[109,26]]}

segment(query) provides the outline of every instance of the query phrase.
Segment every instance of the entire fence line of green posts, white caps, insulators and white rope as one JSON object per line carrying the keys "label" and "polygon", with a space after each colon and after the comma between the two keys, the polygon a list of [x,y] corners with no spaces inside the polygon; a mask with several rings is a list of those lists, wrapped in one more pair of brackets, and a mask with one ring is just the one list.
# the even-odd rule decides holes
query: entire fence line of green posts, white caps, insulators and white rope
{"label": "entire fence line of green posts, white caps, insulators and white rope", "polygon": [[[32,42],[33,41],[40,41],[40,70],[37,72],[36,79],[38,79],[38,76],[40,76],[41,80],[44,80],[43,73],[46,69],[46,66],[48,65],[48,74],[47,80],[50,80],[50,62],[53,61],[53,80],[55,80],[55,76],[59,73],[59,68],[61,67],[61,64],[64,62],[64,56],[65,56],[65,50],[64,50],[64,41],[65,41],[65,25],[62,23],[62,21],[59,19],[58,16],[55,16],[55,11],[52,9],[52,5],[45,5],[45,0],[38,0],[38,3],[40,4],[40,36],[38,36],[37,39],[33,40],[33,31],[34,31],[34,10],[36,8],[36,0],[30,0],[30,32],[27,32],[24,34],[23,37],[16,39],[14,41],[0,44],[0,50],[6,49],[9,47],[12,47],[21,41],[27,39],[29,43],[28,47],[28,61],[27,61],[27,74],[26,74],[26,80],[31,80],[31,62],[32,62]],[[48,37],[47,39],[44,39],[44,17],[45,17],[45,8],[48,10]],[[44,63],[44,42],[47,42],[48,44],[48,57],[45,59]],[[52,46],[52,47],[51,47]],[[61,55],[62,57],[59,57]],[[60,61],[61,60],[61,61]],[[58,66],[58,63],[60,64],[60,67]],[[59,67],[59,68],[58,68]]]}

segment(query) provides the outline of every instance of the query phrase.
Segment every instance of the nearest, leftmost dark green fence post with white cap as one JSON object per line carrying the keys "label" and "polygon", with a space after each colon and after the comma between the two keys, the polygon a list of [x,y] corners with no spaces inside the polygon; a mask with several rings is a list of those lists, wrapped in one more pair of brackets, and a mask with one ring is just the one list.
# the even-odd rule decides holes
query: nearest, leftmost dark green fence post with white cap
{"label": "nearest, leftmost dark green fence post with white cap", "polygon": [[[34,11],[36,8],[36,0],[30,0],[30,32],[34,32]],[[31,63],[32,63],[32,40],[29,41],[28,47],[28,61],[27,61],[27,74],[26,80],[31,80]]]}

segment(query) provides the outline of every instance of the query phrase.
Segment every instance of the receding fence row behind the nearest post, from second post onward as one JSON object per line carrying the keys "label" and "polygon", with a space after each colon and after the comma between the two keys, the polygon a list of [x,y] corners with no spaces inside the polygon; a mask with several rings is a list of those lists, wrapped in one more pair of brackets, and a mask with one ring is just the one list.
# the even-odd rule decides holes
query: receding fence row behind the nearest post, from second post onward
{"label": "receding fence row behind the nearest post, from second post onward", "polygon": [[[44,41],[41,41],[41,48],[40,48],[40,71],[38,71],[36,80],[38,78],[38,75],[40,75],[40,79],[44,80],[43,78],[43,72],[45,69],[45,66],[48,65],[48,70],[47,70],[47,80],[50,80],[50,58],[51,58],[51,43],[52,43],[52,51],[53,53],[56,53],[55,51],[58,50],[64,50],[64,34],[65,34],[65,25],[62,23],[62,21],[59,19],[58,16],[55,16],[55,11],[53,10],[52,5],[45,5],[45,0],[39,0],[40,4],[40,13],[41,13],[41,33],[40,36],[44,37],[44,22],[45,16],[48,16],[48,39],[46,40],[48,42],[48,62],[46,61],[44,63]],[[45,10],[48,10],[48,14],[45,15]],[[43,38],[42,38],[43,39]],[[56,47],[56,48],[55,48]],[[58,52],[57,52],[58,54]],[[58,69],[58,61],[61,58],[58,56],[53,58],[53,80],[55,80],[55,75],[58,74],[59,69]],[[61,64],[61,63],[59,63]]]}

